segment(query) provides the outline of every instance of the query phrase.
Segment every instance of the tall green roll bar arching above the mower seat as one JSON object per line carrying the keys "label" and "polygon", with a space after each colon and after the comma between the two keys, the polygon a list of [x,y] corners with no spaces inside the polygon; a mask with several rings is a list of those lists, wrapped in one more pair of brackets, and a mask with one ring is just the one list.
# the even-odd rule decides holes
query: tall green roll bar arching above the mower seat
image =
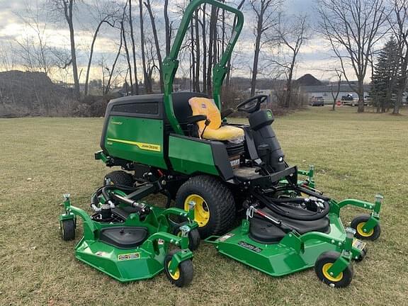
{"label": "tall green roll bar arching above the mower seat", "polygon": [[162,76],[164,80],[164,108],[166,110],[167,118],[169,118],[169,122],[171,127],[173,128],[174,132],[179,135],[183,135],[183,130],[181,130],[179,121],[174,114],[173,108],[173,100],[171,97],[171,93],[173,92],[173,81],[174,77],[176,76],[177,69],[179,68],[179,51],[181,49],[181,43],[184,40],[186,35],[188,26],[193,18],[193,13],[196,11],[198,6],[201,4],[210,4],[212,6],[217,6],[218,8],[225,9],[225,11],[229,11],[234,13],[237,16],[237,24],[235,28],[232,30],[231,39],[228,42],[227,47],[225,48],[225,52],[222,55],[220,62],[215,64],[215,67],[212,71],[212,96],[214,98],[215,104],[221,110],[221,86],[222,82],[225,79],[227,74],[227,63],[228,60],[231,58],[232,50],[234,50],[234,46],[237,43],[239,38],[239,34],[242,31],[242,27],[244,26],[244,14],[239,11],[237,8],[232,8],[231,6],[227,6],[219,1],[215,0],[193,0],[188,4],[186,11],[184,12],[183,18],[181,19],[181,24],[179,30],[177,32],[176,38],[174,39],[173,47],[171,47],[169,56],[167,56],[163,61],[163,68],[162,68]]}

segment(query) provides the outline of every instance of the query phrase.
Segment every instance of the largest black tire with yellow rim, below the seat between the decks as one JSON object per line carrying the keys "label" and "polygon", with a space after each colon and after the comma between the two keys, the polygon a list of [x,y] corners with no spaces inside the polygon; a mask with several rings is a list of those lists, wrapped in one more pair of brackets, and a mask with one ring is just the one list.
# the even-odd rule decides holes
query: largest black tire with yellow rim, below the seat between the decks
{"label": "largest black tire with yellow rim, below the seat between the decks", "polygon": [[188,210],[189,199],[196,202],[194,217],[202,239],[224,234],[234,225],[234,197],[229,188],[214,177],[193,176],[183,183],[177,192],[176,207]]}

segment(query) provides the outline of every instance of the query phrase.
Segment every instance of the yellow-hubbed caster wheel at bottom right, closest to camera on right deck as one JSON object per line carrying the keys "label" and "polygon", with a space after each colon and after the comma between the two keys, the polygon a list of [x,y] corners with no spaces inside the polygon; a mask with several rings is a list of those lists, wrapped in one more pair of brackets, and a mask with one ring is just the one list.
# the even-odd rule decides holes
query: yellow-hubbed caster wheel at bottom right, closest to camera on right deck
{"label": "yellow-hubbed caster wheel at bottom right, closest to camera on right deck", "polygon": [[333,266],[340,256],[339,252],[327,251],[321,254],[316,263],[314,263],[314,271],[317,277],[330,287],[347,287],[353,279],[353,266],[351,266],[351,263],[338,276],[334,277],[329,274],[329,268]]}

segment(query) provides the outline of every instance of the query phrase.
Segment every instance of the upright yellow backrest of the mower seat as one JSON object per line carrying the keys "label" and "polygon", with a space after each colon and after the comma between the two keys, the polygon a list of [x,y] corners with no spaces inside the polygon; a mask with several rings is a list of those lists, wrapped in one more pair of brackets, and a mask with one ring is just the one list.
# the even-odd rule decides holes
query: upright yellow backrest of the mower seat
{"label": "upright yellow backrest of the mower seat", "polygon": [[[211,130],[218,130],[221,126],[221,113],[220,110],[215,105],[214,100],[210,98],[194,97],[188,100],[191,106],[191,111],[193,115],[206,115],[207,119],[210,120],[210,125],[208,128]],[[204,130],[205,122],[199,121],[197,123],[200,131]]]}

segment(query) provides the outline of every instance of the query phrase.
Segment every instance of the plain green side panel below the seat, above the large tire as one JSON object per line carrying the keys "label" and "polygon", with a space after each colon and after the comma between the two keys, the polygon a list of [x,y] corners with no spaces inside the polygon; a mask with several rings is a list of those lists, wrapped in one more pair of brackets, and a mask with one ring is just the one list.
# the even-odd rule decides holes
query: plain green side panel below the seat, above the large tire
{"label": "plain green side panel below the seat, above the large tire", "polygon": [[210,142],[170,135],[169,159],[173,169],[184,174],[202,172],[218,175]]}

